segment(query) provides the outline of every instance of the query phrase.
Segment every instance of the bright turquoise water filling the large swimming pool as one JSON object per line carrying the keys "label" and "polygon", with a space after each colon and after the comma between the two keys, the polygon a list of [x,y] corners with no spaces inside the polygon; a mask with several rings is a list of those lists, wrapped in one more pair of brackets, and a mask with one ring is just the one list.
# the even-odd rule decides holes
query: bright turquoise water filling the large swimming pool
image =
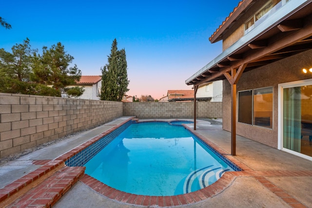
{"label": "bright turquoise water filling the large swimming pool", "polygon": [[192,192],[234,171],[184,127],[131,124],[85,165],[85,173],[132,194]]}

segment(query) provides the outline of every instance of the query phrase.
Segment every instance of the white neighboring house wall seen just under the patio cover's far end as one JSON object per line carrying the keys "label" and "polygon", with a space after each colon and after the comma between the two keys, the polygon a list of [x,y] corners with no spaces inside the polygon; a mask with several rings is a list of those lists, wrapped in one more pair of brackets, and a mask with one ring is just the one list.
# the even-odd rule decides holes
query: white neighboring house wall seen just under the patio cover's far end
{"label": "white neighboring house wall seen just under the patio cover's far end", "polygon": [[207,98],[207,101],[210,102],[222,102],[222,85],[222,80],[207,82],[199,85],[196,92],[196,99]]}

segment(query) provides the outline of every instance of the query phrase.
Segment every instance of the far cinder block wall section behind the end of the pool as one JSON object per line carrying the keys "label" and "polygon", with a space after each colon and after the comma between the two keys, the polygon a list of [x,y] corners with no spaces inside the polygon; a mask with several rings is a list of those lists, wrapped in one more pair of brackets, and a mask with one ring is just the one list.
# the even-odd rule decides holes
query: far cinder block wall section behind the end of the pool
{"label": "far cinder block wall section behind the end of the pool", "polygon": [[[222,102],[197,102],[197,118],[222,118]],[[194,102],[123,103],[123,115],[137,118],[193,118]]]}

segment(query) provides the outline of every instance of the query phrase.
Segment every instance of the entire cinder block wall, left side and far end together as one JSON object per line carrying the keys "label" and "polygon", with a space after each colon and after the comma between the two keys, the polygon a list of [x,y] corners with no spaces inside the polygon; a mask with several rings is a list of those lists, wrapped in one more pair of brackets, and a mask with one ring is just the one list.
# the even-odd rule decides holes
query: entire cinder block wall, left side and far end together
{"label": "entire cinder block wall, left side and far end together", "polygon": [[[193,102],[122,103],[0,93],[0,158],[120,116],[193,118]],[[221,102],[198,102],[198,118],[221,118]]]}

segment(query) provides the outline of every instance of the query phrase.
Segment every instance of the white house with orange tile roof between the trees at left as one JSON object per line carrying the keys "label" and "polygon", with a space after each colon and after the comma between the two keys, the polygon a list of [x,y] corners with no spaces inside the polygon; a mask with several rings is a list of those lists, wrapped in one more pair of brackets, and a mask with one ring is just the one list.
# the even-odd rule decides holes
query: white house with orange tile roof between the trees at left
{"label": "white house with orange tile roof between the trees at left", "polygon": [[[78,98],[99,100],[98,92],[102,86],[102,76],[81,76],[77,82],[79,87],[84,87],[84,92]],[[74,86],[70,86],[74,87]]]}

